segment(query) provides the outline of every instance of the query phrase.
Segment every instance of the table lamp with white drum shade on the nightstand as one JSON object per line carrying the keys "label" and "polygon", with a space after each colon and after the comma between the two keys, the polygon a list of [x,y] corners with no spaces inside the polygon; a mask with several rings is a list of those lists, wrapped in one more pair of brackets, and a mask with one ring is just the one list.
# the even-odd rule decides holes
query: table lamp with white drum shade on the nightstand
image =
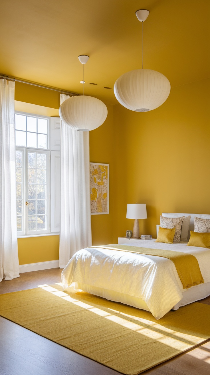
{"label": "table lamp with white drum shade on the nightstand", "polygon": [[139,238],[139,219],[147,219],[146,204],[127,204],[127,219],[135,219],[133,238]]}

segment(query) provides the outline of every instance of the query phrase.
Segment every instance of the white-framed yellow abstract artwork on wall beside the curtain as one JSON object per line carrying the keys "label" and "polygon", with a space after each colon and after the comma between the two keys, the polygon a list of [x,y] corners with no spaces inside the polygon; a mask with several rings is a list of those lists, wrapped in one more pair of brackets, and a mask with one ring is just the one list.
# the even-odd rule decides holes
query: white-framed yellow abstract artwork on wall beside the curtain
{"label": "white-framed yellow abstract artwork on wall beside the curtain", "polygon": [[109,164],[90,163],[91,215],[109,213]]}

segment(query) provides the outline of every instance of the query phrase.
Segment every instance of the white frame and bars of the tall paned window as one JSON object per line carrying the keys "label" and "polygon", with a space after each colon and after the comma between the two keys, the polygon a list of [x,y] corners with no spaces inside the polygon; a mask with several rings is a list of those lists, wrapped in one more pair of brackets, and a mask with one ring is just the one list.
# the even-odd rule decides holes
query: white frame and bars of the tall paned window
{"label": "white frame and bars of the tall paned window", "polygon": [[[48,120],[48,134],[47,134],[47,145],[48,148],[31,148],[25,146],[16,146],[17,151],[23,152],[22,158],[22,168],[23,168],[23,175],[22,175],[22,194],[23,194],[23,205],[22,205],[22,231],[17,231],[18,237],[35,237],[36,235],[46,235],[50,234],[50,217],[51,217],[51,201],[50,201],[50,117],[43,116],[43,115],[36,115],[31,113],[25,113],[20,111],[15,111],[15,114],[30,116],[30,117],[38,117],[44,118]],[[27,130],[27,129],[26,129]],[[27,133],[27,131],[25,131]],[[35,152],[35,153],[45,153],[47,155],[47,186],[46,186],[46,196],[47,196],[47,204],[46,204],[46,229],[39,230],[39,231],[28,231],[28,208],[25,205],[25,202],[28,201],[28,152]],[[25,172],[25,175],[24,175]],[[24,201],[25,197],[25,201]]]}

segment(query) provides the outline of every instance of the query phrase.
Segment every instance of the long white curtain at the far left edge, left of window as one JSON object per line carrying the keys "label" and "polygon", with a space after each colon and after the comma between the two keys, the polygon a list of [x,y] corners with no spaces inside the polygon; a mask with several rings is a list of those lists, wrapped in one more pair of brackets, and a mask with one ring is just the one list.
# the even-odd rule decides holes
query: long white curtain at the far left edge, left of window
{"label": "long white curtain at the far left edge, left of window", "polygon": [[19,277],[14,92],[15,82],[0,79],[0,281]]}

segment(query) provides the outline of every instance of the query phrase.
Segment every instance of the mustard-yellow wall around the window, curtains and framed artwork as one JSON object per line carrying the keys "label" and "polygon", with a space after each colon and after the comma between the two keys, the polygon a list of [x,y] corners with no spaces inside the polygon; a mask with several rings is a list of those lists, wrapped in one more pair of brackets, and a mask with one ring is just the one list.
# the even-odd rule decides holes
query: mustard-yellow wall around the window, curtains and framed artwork
{"label": "mustard-yellow wall around the window, curtains and framed artwork", "polygon": [[[60,93],[16,82],[15,101],[16,110],[39,114],[38,106],[42,106],[40,114],[56,115],[52,109],[59,108]],[[90,161],[110,165],[110,213],[91,216],[94,245],[112,243],[113,239],[113,106],[107,105],[107,109],[104,124],[90,132]],[[59,236],[18,239],[18,254],[20,264],[56,260],[59,255]]]}

